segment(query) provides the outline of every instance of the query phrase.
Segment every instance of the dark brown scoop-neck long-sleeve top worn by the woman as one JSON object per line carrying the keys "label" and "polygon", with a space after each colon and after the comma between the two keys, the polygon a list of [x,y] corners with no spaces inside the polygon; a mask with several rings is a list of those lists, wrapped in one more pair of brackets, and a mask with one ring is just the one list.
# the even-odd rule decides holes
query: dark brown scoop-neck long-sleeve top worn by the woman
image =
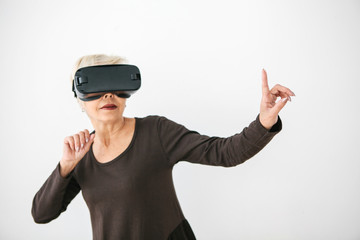
{"label": "dark brown scoop-neck long-sleeve top worn by the woman", "polygon": [[179,161],[230,167],[258,153],[282,128],[265,129],[259,116],[228,138],[190,131],[165,117],[136,118],[128,148],[107,163],[89,152],[66,178],[59,164],[36,193],[32,215],[47,223],[82,191],[93,239],[195,239],[176,197],[173,166]]}

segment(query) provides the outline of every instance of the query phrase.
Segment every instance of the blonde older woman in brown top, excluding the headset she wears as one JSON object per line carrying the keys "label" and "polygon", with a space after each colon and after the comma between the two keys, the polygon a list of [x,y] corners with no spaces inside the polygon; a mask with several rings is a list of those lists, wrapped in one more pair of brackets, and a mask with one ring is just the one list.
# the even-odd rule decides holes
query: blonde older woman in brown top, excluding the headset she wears
{"label": "blonde older woman in brown top, excluding the headset she wears", "polygon": [[[120,57],[84,56],[71,79],[80,68],[124,63]],[[228,138],[200,135],[165,117],[124,117],[126,98],[116,92],[78,99],[95,131],[64,139],[60,162],[34,197],[33,218],[37,223],[57,218],[81,190],[93,239],[195,239],[175,194],[174,165],[243,163],[281,130],[278,113],[291,96],[280,85],[270,90],[263,70],[260,114]]]}

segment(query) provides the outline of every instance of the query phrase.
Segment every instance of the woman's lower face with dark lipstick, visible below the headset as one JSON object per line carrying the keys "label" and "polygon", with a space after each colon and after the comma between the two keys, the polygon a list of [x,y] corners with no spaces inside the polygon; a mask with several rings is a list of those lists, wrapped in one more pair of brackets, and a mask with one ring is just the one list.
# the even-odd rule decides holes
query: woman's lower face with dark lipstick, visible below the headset
{"label": "woman's lower face with dark lipstick, visible below the headset", "polygon": [[120,98],[111,92],[92,101],[79,101],[90,120],[95,122],[116,122],[122,119],[126,104],[126,98]]}

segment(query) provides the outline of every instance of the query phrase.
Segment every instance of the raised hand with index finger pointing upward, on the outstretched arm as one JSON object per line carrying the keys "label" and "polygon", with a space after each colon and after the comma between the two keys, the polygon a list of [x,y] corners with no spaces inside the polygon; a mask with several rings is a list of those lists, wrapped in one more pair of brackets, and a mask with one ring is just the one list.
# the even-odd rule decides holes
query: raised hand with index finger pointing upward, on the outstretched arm
{"label": "raised hand with index finger pointing upward, on the outstretched arm", "polygon": [[[269,89],[267,74],[262,70],[262,98],[260,104],[260,122],[266,129],[271,127],[278,121],[278,114],[286,105],[287,101],[291,101],[291,96],[295,94],[289,89],[276,84],[271,90]],[[276,99],[281,99],[276,102]]]}

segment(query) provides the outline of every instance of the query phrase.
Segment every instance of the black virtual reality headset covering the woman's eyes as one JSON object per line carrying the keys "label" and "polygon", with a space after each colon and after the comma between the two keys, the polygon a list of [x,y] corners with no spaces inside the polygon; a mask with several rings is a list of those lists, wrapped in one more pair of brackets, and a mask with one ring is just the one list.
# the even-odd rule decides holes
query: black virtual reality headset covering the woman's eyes
{"label": "black virtual reality headset covering the woman's eyes", "polygon": [[91,101],[109,92],[121,98],[129,98],[140,86],[140,70],[134,65],[96,65],[76,71],[72,91],[82,101]]}

